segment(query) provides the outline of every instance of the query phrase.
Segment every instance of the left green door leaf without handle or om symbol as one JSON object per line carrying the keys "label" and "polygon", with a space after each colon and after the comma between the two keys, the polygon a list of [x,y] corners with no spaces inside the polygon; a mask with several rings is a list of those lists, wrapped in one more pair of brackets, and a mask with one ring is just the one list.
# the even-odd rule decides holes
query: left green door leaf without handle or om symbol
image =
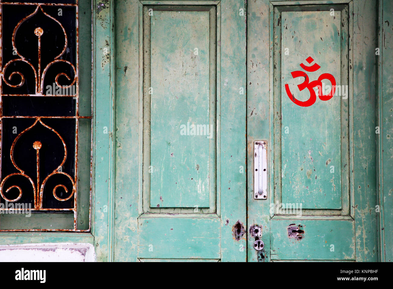
{"label": "left green door leaf without handle or om symbol", "polygon": [[116,5],[115,261],[246,260],[244,5]]}

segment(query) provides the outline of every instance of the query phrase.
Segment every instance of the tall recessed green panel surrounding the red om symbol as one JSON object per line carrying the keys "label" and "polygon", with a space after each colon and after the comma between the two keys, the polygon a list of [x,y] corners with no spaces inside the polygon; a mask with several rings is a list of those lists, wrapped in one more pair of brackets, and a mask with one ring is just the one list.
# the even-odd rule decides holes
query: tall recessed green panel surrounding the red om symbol
{"label": "tall recessed green panel surrounding the red om symbol", "polygon": [[[299,92],[303,77],[291,72],[312,57],[321,66],[307,72],[310,82],[322,73],[332,74],[343,85],[341,66],[341,15],[330,11],[283,11],[281,13],[281,75],[299,101],[310,98]],[[315,33],[309,33],[314,30]],[[347,42],[347,39],[344,40]],[[288,55],[285,53],[287,52]],[[314,64],[312,63],[312,64]],[[323,85],[332,85],[323,80]],[[341,91],[341,90],[340,90]],[[325,94],[325,92],[323,92]],[[304,209],[341,209],[341,102],[340,95],[309,107],[293,103],[281,87],[281,175],[283,203],[302,203]],[[348,112],[347,112],[348,113]],[[348,126],[348,117],[345,121]],[[346,131],[347,135],[347,131]],[[348,149],[346,149],[348,151]],[[336,168],[332,171],[332,167]],[[349,192],[345,192],[349,193]]]}

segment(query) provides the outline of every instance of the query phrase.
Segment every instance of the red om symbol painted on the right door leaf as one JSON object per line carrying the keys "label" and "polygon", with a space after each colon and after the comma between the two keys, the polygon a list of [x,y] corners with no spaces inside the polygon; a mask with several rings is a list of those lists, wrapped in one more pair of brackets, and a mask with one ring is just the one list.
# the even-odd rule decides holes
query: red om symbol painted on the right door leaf
{"label": "red om symbol painted on the right door leaf", "polygon": [[[311,64],[312,61],[314,61],[314,59],[312,59],[312,57],[309,56],[309,57],[307,57],[306,61],[309,64]],[[301,63],[300,67],[308,72],[314,72],[314,71],[317,71],[318,69],[321,68],[321,66],[319,66],[316,63],[314,63],[311,66],[305,66],[303,63]],[[318,87],[318,97],[321,100],[331,99],[334,95],[334,91],[336,90],[336,79],[330,73],[323,73],[320,75],[320,77],[318,77],[318,80],[311,81],[310,83],[309,83],[309,76],[307,75],[307,73],[305,73],[301,70],[292,71],[291,75],[293,78],[304,77],[303,83],[298,85],[299,91],[302,91],[303,89],[305,89],[307,87],[310,92],[310,98],[308,100],[300,101],[299,99],[295,98],[295,96],[292,94],[292,92],[290,92],[289,85],[285,84],[285,91],[286,91],[286,94],[288,95],[288,98],[290,100],[292,100],[293,103],[295,103],[296,105],[299,105],[301,107],[309,107],[315,103],[317,96],[315,94],[314,87]],[[332,90],[327,95],[323,94],[323,92],[322,92],[322,82],[321,81],[323,79],[329,80],[332,84]]]}

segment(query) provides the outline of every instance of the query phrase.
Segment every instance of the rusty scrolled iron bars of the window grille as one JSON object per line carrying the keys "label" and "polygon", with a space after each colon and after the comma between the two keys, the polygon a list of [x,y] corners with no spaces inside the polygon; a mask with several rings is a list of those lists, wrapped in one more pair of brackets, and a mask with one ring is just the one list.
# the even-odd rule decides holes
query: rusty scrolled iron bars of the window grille
{"label": "rusty scrolled iron bars of the window grille", "polygon": [[[40,53],[42,52],[41,48],[40,48],[40,34],[42,35],[42,31],[37,31],[36,36],[39,38],[38,41],[38,75],[37,75],[37,71],[35,70],[35,67],[33,67],[32,64],[30,64],[30,66],[33,68],[33,70],[35,71],[35,94],[5,94],[3,93],[3,85],[8,85],[10,87],[14,87],[13,85],[9,85],[7,83],[6,77],[5,77],[5,70],[8,67],[8,65],[13,62],[13,61],[24,61],[24,57],[20,54],[18,54],[17,52],[17,58],[12,59],[11,61],[8,61],[6,64],[3,64],[3,35],[2,35],[2,31],[3,31],[3,13],[2,13],[2,8],[4,5],[15,5],[15,6],[37,6],[35,11],[31,14],[29,14],[28,16],[22,18],[17,26],[15,27],[13,33],[12,33],[12,46],[14,48],[14,50],[17,52],[17,49],[15,47],[15,33],[17,31],[17,27],[19,25],[21,25],[22,23],[24,23],[26,20],[28,20],[30,17],[32,17],[33,15],[35,15],[37,13],[37,11],[39,11],[39,9],[44,13],[44,9],[47,6],[55,6],[55,7],[65,7],[65,6],[72,6],[75,7],[75,45],[76,45],[76,49],[75,49],[75,66],[73,66],[73,64],[70,61],[66,61],[66,60],[59,60],[58,58],[61,57],[64,52],[66,51],[66,49],[68,48],[68,39],[67,39],[67,34],[66,31],[64,29],[64,26],[61,24],[61,22],[59,20],[57,20],[55,17],[51,17],[50,15],[46,14],[48,17],[54,19],[56,22],[58,22],[61,26],[61,28],[64,31],[64,38],[65,38],[65,44],[64,44],[64,49],[62,50],[62,53],[60,53],[57,57],[55,57],[55,59],[53,59],[53,61],[51,61],[49,64],[46,65],[46,68],[44,68],[44,70],[42,70],[42,67],[40,67]],[[36,29],[37,30],[37,29]],[[41,29],[42,30],[42,29]],[[45,180],[48,180],[49,177],[51,177],[51,175],[56,174],[57,171],[60,169],[60,167],[62,166],[62,164],[64,164],[64,161],[67,157],[67,148],[66,148],[66,144],[64,142],[64,140],[62,139],[61,135],[55,131],[53,128],[49,127],[48,125],[45,125],[45,120],[46,119],[74,119],[75,120],[75,134],[74,134],[74,140],[75,140],[75,152],[73,157],[75,157],[74,159],[74,173],[73,173],[73,178],[68,175],[70,177],[70,180],[72,181],[72,193],[70,193],[70,196],[65,198],[64,200],[68,200],[71,197],[73,197],[73,208],[43,208],[42,207],[42,197],[43,197],[43,189],[44,189],[44,184],[45,184],[45,180],[40,184],[40,169],[39,169],[39,149],[40,149],[40,143],[35,142],[35,144],[33,145],[33,147],[36,149],[37,151],[37,179],[35,180],[35,183],[33,185],[33,190],[34,190],[34,208],[32,208],[32,212],[33,213],[55,213],[55,212],[67,212],[67,211],[72,211],[73,212],[73,228],[56,228],[56,229],[48,229],[48,228],[39,228],[39,229],[6,229],[6,230],[2,230],[0,229],[0,232],[27,232],[27,231],[62,231],[62,232],[90,232],[91,230],[91,212],[92,212],[92,141],[93,141],[93,126],[92,123],[90,122],[90,188],[89,188],[89,210],[88,210],[88,228],[87,229],[78,229],[78,211],[77,211],[77,203],[78,203],[78,151],[79,151],[79,123],[80,120],[83,119],[88,119],[88,120],[92,120],[92,110],[90,112],[90,116],[84,116],[84,115],[80,115],[79,114],[79,0],[75,0],[75,3],[72,4],[66,4],[66,3],[46,3],[46,2],[3,2],[0,1],[0,139],[1,139],[1,143],[2,143],[2,131],[3,131],[3,120],[4,119],[15,119],[15,118],[24,118],[24,119],[35,119],[35,122],[33,125],[31,125],[30,127],[28,127],[27,129],[24,129],[21,133],[19,133],[17,135],[17,137],[15,138],[15,140],[13,141],[13,145],[11,146],[11,150],[9,152],[4,151],[3,152],[3,147],[1,145],[0,147],[0,153],[9,153],[10,157],[11,157],[11,162],[13,163],[13,166],[18,169],[18,171],[20,171],[20,173],[15,173],[15,174],[20,174],[23,176],[28,177],[30,180],[34,180],[34,176],[28,176],[26,174],[24,174],[24,171],[19,169],[18,166],[15,164],[15,162],[13,161],[13,148],[15,145],[15,142],[18,140],[18,138],[20,136],[22,136],[26,131],[28,131],[31,127],[33,127],[34,125],[36,125],[37,123],[41,123],[42,125],[46,126],[48,129],[50,129],[51,131],[53,131],[55,134],[57,134],[57,136],[59,136],[59,138],[61,139],[63,145],[64,145],[64,160],[61,163],[60,166],[58,166],[52,173],[50,173],[48,176],[46,176]],[[50,67],[51,64],[53,64],[56,60],[61,61],[61,62],[67,62],[68,64],[70,64],[73,68],[74,71],[74,79],[73,82],[70,85],[66,85],[66,87],[72,87],[72,85],[75,84],[75,94],[44,94],[44,77],[45,77],[45,72],[46,70]],[[26,62],[26,61],[24,61]],[[42,75],[41,75],[41,70],[42,70]],[[15,72],[13,72],[13,74],[15,74]],[[19,73],[17,73],[19,74]],[[20,75],[20,74],[19,74]],[[59,77],[59,75],[64,75],[66,76],[69,80],[70,78],[68,77],[68,75],[64,74],[64,73],[59,73],[57,74],[57,77]],[[24,76],[20,75],[22,81],[24,81]],[[58,85],[59,87],[64,87],[62,85],[59,85],[59,83],[57,82],[57,77],[55,79],[55,83],[56,85]],[[11,80],[11,79],[9,79]],[[4,83],[3,83],[4,81]],[[21,82],[22,82],[21,81]],[[23,85],[23,83],[22,83]],[[19,97],[19,96],[28,96],[28,97],[51,97],[51,96],[56,96],[56,97],[72,97],[75,99],[75,115],[74,116],[40,116],[40,115],[36,115],[36,116],[21,116],[21,115],[13,115],[13,116],[9,116],[9,115],[4,115],[3,114],[3,97],[4,96],[13,96],[13,97]],[[91,95],[90,95],[91,98]],[[92,100],[92,99],[91,99]],[[1,168],[1,163],[0,163],[0,168]],[[62,173],[64,175],[66,175],[66,173]],[[0,171],[0,175],[1,175],[1,171]],[[13,175],[13,174],[11,174]],[[7,176],[8,177],[8,176]],[[6,177],[6,178],[7,178]],[[1,180],[1,185],[0,185],[0,190],[3,189],[3,185],[4,185],[4,181],[6,180],[6,178],[0,177]],[[72,179],[71,179],[72,178]],[[58,185],[58,186],[62,186],[62,185]],[[55,189],[58,187],[56,186]],[[36,188],[37,187],[37,188]],[[17,186],[11,186],[8,190],[10,190],[11,188],[17,188]],[[53,196],[57,198],[56,194],[55,194],[55,189],[53,190]],[[7,191],[8,191],[7,190]],[[6,190],[4,190],[6,191]],[[20,199],[20,196],[22,194],[22,191],[19,189],[20,194],[18,196],[18,198]],[[3,200],[6,200],[6,198],[4,197],[3,194],[3,190],[2,190],[2,195],[1,195]],[[62,200],[62,199],[58,199],[58,200]],[[15,199],[13,200],[13,202],[17,202],[18,200]],[[24,210],[24,209],[9,209],[9,208],[0,208],[0,214],[4,213],[7,210]]]}

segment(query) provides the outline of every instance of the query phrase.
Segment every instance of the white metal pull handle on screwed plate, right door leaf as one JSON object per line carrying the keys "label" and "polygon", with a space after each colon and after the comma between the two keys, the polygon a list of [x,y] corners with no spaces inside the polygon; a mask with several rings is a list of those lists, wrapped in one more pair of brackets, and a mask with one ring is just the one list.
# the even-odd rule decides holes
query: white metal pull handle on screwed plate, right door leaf
{"label": "white metal pull handle on screwed plate, right door leaf", "polygon": [[254,199],[267,199],[267,142],[254,142]]}

